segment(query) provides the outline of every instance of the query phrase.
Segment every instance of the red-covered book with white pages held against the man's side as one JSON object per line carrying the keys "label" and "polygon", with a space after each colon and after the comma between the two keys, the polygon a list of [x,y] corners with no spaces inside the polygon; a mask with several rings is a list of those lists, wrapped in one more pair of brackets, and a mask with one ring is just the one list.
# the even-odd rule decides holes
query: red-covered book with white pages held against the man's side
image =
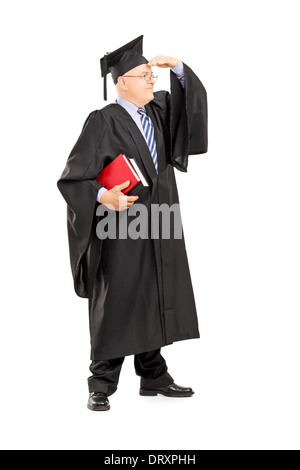
{"label": "red-covered book with white pages held against the man's side", "polygon": [[97,177],[97,181],[103,184],[106,189],[111,189],[116,184],[121,184],[128,180],[130,183],[127,188],[122,189],[123,194],[127,194],[139,183],[143,186],[148,186],[134,159],[129,159],[122,153],[103,168]]}

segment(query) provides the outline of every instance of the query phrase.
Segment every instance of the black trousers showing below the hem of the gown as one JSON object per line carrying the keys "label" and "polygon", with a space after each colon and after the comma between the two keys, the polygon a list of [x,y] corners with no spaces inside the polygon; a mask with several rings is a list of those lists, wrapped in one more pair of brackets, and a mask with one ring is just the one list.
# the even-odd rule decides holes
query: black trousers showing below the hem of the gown
{"label": "black trousers showing below the hem of the gown", "polygon": [[[112,395],[118,388],[121,368],[124,357],[105,361],[92,361],[90,371],[93,374],[88,378],[89,392],[102,392]],[[165,387],[174,382],[167,372],[165,359],[160,349],[134,356],[135,373],[141,377],[141,388]]]}

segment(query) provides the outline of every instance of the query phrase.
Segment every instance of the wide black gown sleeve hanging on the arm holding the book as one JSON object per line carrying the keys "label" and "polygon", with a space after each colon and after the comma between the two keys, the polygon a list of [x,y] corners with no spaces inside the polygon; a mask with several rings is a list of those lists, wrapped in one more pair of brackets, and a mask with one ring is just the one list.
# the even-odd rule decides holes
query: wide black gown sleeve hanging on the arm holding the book
{"label": "wide black gown sleeve hanging on the arm holding the book", "polygon": [[[57,186],[67,203],[67,229],[71,270],[75,292],[79,297],[90,296],[91,276],[100,258],[100,240],[95,238],[95,210],[101,185],[96,178],[99,168],[99,151],[109,122],[99,111],[87,117],[57,181]],[[96,241],[94,243],[93,241]],[[97,248],[96,248],[97,247]],[[95,248],[98,250],[94,253]]]}

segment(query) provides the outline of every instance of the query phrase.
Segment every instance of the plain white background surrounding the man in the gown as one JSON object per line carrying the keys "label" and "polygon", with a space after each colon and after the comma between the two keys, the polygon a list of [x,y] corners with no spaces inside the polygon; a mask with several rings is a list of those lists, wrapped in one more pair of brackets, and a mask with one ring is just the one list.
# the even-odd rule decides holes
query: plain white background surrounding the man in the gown
{"label": "plain white background surrounding the man in the gown", "polygon": [[[298,3],[1,2],[1,448],[299,449]],[[140,397],[130,356],[93,413],[56,181],[116,98],[100,58],[141,34],[208,94],[208,153],[176,171],[201,338],[162,350],[196,393]]]}

